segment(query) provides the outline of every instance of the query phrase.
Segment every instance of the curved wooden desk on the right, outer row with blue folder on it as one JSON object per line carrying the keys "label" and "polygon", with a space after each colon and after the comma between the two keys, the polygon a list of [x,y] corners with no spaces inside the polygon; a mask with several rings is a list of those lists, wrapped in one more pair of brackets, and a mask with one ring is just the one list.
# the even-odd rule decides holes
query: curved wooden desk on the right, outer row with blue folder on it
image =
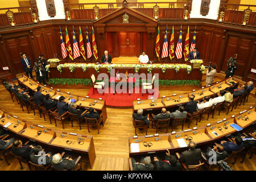
{"label": "curved wooden desk on the right, outer row with blue folder on it", "polygon": [[[232,134],[237,133],[237,127],[242,131],[249,129],[255,124],[256,109],[255,106],[250,106],[249,109],[241,111],[238,114],[232,115],[229,118],[223,118],[214,123],[208,123],[206,126],[193,127],[193,129],[183,131],[173,131],[167,134],[155,134],[146,136],[129,137],[129,166],[132,169],[131,157],[144,155],[158,156],[170,150],[176,152],[179,150],[188,150],[188,142],[192,140],[200,145],[210,146],[217,140],[224,139]],[[245,115],[249,119],[245,118]],[[240,119],[238,119],[240,117]],[[242,119],[242,117],[244,117]],[[245,120],[246,119],[246,120]],[[150,146],[148,146],[150,143]]]}

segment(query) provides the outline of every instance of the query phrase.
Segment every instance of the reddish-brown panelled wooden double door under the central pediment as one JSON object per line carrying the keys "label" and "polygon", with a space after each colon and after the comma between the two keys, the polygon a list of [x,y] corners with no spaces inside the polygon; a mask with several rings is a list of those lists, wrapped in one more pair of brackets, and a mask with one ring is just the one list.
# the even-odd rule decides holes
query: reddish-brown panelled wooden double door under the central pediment
{"label": "reddish-brown panelled wooden double door under the central pediment", "polygon": [[137,56],[137,32],[119,32],[120,56]]}

